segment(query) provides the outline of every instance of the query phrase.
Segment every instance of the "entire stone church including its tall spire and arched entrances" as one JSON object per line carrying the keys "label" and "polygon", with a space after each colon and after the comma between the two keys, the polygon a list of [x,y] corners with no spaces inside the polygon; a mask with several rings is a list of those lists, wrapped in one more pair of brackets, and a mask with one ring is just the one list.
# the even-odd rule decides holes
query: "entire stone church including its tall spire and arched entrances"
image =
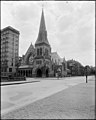
{"label": "entire stone church including its tall spire and arched entrances", "polygon": [[27,77],[53,77],[58,68],[62,76],[67,75],[67,64],[57,52],[51,52],[51,46],[47,38],[44,11],[42,10],[40,28],[35,47],[30,45],[26,54],[22,57],[18,73]]}

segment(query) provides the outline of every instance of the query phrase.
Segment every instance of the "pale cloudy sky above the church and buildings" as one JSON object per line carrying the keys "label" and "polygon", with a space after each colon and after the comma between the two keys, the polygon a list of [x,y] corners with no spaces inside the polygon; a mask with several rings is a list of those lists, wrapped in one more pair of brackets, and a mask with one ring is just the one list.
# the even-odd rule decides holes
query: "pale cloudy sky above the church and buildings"
{"label": "pale cloudy sky above the church and buildings", "polygon": [[94,1],[1,1],[1,29],[20,31],[19,56],[37,40],[42,6],[52,52],[95,66]]}

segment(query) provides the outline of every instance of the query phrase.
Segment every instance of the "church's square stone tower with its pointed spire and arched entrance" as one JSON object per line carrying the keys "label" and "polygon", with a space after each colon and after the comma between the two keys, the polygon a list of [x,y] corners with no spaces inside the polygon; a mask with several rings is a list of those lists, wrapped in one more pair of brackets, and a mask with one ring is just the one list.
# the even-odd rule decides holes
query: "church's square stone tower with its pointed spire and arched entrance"
{"label": "church's square stone tower with its pointed spire and arched entrance", "polygon": [[51,47],[47,39],[44,11],[42,9],[39,34],[35,43],[35,65],[37,77],[48,77],[51,65]]}

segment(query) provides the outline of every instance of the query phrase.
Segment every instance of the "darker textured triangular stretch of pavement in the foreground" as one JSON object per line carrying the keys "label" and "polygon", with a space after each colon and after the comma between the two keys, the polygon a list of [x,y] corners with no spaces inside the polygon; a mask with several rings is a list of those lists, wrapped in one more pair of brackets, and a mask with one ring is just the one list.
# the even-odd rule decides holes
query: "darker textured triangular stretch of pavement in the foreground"
{"label": "darker textured triangular stretch of pavement in the foreground", "polygon": [[80,83],[16,109],[2,119],[94,119],[95,81]]}

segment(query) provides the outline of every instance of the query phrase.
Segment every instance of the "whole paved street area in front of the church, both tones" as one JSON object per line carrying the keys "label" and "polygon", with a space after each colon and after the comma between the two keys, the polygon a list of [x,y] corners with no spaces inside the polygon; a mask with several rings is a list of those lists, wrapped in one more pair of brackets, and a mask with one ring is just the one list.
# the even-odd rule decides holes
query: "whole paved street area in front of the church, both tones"
{"label": "whole paved street area in front of the church, both tones", "polygon": [[94,118],[94,89],[93,78],[86,84],[84,77],[2,87],[2,118]]}

